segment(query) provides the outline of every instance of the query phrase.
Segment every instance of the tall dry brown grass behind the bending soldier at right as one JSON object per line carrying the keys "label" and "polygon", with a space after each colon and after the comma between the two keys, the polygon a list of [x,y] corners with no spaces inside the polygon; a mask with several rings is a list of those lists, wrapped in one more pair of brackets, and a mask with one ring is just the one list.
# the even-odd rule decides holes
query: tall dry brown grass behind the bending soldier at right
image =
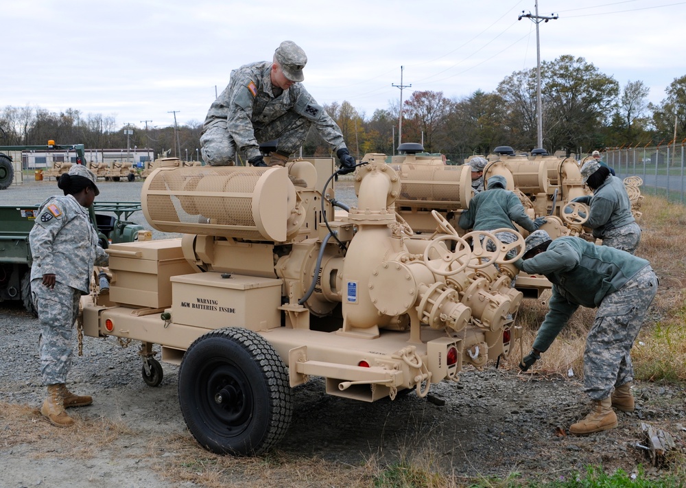
{"label": "tall dry brown grass behind the bending soldier at right", "polygon": [[[646,196],[639,224],[643,233],[637,255],[648,259],[660,286],[637,344],[632,349],[637,380],[686,381],[686,209],[661,198]],[[517,315],[526,354],[547,312],[545,300],[525,300]],[[548,351],[532,367],[533,373],[582,376],[582,356],[595,310],[580,307]],[[521,360],[516,348],[505,367],[514,369]]]}

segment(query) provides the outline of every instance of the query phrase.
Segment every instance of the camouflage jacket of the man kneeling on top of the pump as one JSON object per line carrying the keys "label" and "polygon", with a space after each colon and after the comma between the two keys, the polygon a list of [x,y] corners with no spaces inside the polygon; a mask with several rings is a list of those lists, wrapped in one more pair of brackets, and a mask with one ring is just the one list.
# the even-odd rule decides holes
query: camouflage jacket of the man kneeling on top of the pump
{"label": "camouflage jacket of the man kneeling on top of the pump", "polygon": [[309,119],[334,151],[345,148],[340,128],[303,84],[295,83],[281,95],[274,95],[271,68],[272,62],[261,61],[231,71],[228,86],[207,112],[203,131],[214,126],[226,127],[237,148],[252,159],[260,154],[255,128],[267,126],[293,111]]}

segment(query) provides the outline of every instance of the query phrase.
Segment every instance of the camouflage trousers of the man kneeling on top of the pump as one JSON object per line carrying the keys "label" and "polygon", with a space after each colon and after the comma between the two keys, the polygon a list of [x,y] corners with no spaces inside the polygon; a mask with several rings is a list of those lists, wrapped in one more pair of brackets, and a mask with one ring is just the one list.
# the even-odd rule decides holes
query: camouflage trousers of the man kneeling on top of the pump
{"label": "camouflage trousers of the man kneeling on top of the pump", "polygon": [[[258,143],[265,143],[272,139],[279,139],[276,150],[283,154],[293,154],[305,143],[312,123],[302,115],[287,112],[276,120],[267,124],[255,122],[249,130],[255,131]],[[213,126],[200,136],[202,159],[211,166],[234,166],[236,158],[236,143],[228,134],[226,126]],[[248,158],[252,156],[248,155]],[[247,163],[246,163],[247,165]]]}

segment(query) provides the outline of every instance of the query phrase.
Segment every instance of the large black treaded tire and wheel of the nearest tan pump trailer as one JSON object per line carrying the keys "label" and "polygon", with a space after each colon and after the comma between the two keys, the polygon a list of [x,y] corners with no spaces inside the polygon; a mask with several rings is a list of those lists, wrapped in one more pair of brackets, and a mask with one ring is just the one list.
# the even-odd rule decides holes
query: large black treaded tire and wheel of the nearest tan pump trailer
{"label": "large black treaded tire and wheel of the nearest tan pump trailer", "polygon": [[217,329],[186,351],[178,372],[186,426],[217,454],[255,456],[274,447],[292,417],[285,364],[247,329]]}

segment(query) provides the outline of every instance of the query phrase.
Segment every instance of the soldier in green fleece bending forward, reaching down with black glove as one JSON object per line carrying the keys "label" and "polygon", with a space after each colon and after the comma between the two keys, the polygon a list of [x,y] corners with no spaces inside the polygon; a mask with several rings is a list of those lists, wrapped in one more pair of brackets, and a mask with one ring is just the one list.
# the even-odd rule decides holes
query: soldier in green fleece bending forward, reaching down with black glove
{"label": "soldier in green fleece bending forward, reaching down with black glove", "polygon": [[657,293],[650,263],[579,237],[550,240],[539,230],[526,238],[523,259],[515,264],[525,272],[545,275],[553,284],[549,310],[520,368],[526,371],[547,351],[579,305],[598,307],[584,350],[584,391],[593,410],[569,432],[592,434],[617,427],[612,407],[634,410],[630,350]]}

